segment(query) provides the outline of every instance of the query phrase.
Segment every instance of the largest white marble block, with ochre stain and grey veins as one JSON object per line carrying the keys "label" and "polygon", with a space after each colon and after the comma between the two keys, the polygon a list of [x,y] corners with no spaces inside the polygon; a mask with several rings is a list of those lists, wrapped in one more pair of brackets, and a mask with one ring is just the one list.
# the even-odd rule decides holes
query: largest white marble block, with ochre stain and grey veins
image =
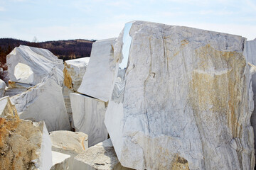
{"label": "largest white marble block, with ochre stain and grey veins", "polygon": [[253,169],[253,94],[245,38],[134,21],[114,45],[120,62],[105,125],[122,166]]}

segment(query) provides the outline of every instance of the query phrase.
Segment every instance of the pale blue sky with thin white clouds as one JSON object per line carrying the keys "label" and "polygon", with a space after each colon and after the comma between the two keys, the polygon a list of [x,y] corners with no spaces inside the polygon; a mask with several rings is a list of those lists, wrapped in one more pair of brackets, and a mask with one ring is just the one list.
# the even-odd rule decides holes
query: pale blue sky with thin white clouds
{"label": "pale blue sky with thin white clouds", "polygon": [[0,38],[116,38],[129,21],[256,38],[255,0],[0,0]]}

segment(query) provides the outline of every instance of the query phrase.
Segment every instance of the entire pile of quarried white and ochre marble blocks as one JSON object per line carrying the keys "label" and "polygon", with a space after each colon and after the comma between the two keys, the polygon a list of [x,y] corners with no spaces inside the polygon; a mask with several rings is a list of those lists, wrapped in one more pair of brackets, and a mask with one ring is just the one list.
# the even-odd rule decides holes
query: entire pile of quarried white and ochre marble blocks
{"label": "entire pile of quarried white and ochre marble blocks", "polygon": [[144,21],[64,64],[16,47],[0,80],[0,167],[254,169],[255,49]]}

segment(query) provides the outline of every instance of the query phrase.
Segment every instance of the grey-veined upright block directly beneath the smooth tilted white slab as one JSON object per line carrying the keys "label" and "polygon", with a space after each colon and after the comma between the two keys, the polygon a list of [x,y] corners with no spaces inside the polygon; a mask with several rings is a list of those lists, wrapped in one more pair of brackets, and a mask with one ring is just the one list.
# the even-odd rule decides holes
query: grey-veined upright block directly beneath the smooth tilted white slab
{"label": "grey-veined upright block directly beneath the smooth tilted white slab", "polygon": [[88,135],[88,146],[107,140],[104,124],[107,103],[82,94],[70,94],[75,131]]}

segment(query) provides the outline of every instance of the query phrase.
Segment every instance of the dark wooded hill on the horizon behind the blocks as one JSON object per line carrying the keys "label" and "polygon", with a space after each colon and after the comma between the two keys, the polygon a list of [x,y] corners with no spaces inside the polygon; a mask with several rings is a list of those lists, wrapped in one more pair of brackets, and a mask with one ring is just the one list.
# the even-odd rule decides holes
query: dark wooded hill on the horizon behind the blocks
{"label": "dark wooded hill on the horizon behind the blocks", "polygon": [[0,67],[7,69],[6,55],[8,55],[14,47],[19,45],[28,45],[31,47],[41,47],[50,50],[54,55],[63,60],[70,60],[80,57],[90,57],[92,50],[92,42],[90,40],[58,40],[46,42],[28,42],[24,40],[16,40],[13,38],[0,38]]}

